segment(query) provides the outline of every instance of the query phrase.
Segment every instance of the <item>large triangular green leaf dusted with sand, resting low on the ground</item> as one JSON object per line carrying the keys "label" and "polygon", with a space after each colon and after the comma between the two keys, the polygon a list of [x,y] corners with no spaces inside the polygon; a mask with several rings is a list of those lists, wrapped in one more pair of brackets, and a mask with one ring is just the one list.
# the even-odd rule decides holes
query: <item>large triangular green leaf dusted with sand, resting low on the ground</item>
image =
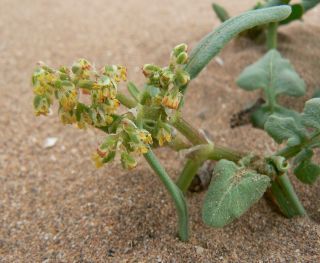
{"label": "large triangular green leaf dusted with sand, resting low on the ground", "polygon": [[245,213],[266,191],[270,178],[235,163],[221,160],[215,167],[202,207],[202,219],[212,227],[223,227]]}

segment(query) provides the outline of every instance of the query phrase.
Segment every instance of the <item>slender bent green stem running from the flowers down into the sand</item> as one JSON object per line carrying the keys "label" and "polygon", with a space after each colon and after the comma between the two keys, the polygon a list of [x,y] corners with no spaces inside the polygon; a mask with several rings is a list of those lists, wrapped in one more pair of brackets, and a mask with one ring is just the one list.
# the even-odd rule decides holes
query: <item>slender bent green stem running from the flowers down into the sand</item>
{"label": "slender bent green stem running from the flowers down into the sand", "polygon": [[144,154],[147,162],[151,166],[151,168],[155,171],[155,173],[159,176],[160,180],[168,190],[171,195],[174,204],[178,213],[178,228],[179,228],[179,237],[182,241],[188,240],[188,210],[185,198],[180,189],[175,185],[175,183],[171,180],[167,172],[164,170],[160,162],[154,153],[149,150],[146,154]]}

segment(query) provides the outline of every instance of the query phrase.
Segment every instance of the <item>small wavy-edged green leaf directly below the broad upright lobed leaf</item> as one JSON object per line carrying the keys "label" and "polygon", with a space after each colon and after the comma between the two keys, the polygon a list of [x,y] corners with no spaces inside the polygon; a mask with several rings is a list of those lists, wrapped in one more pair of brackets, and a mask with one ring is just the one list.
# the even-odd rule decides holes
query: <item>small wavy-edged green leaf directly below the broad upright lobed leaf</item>
{"label": "small wavy-edged green leaf directly below the broad upright lobed leaf", "polygon": [[288,146],[302,143],[306,138],[306,130],[292,117],[280,117],[271,115],[265,125],[266,132],[277,142],[288,140]]}

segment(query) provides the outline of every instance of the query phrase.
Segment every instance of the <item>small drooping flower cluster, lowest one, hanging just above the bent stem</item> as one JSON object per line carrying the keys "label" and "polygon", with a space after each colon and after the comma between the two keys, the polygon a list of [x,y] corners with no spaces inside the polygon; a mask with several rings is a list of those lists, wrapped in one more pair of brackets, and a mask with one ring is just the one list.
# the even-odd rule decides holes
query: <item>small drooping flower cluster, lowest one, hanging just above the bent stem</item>
{"label": "small drooping flower cluster, lowest one, hanging just above the bent stem", "polygon": [[152,144],[151,134],[139,129],[133,121],[123,118],[114,134],[106,137],[104,142],[93,154],[92,159],[97,167],[113,160],[116,152],[121,153],[121,164],[125,169],[132,169],[137,165],[133,154],[145,154]]}

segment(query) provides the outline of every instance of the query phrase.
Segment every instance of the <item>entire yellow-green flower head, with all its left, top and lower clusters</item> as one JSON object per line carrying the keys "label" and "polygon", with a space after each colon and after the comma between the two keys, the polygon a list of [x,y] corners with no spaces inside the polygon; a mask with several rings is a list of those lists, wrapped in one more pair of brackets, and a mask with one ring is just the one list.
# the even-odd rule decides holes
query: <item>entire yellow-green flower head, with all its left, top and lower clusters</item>
{"label": "entire yellow-green flower head, with all its left, top and lower clusters", "polygon": [[57,100],[63,124],[79,128],[91,125],[108,134],[92,156],[97,167],[113,160],[118,152],[122,166],[132,169],[137,165],[134,155],[147,153],[153,139],[160,146],[171,141],[173,129],[168,120],[182,100],[181,87],[190,80],[184,70],[187,60],[187,45],[181,44],[171,52],[168,67],[145,65],[147,85],[135,98],[137,108],[122,115],[116,114],[120,106],[117,88],[127,79],[125,67],[112,65],[97,70],[85,59],[59,69],[41,63],[32,76],[35,114],[47,115]]}

